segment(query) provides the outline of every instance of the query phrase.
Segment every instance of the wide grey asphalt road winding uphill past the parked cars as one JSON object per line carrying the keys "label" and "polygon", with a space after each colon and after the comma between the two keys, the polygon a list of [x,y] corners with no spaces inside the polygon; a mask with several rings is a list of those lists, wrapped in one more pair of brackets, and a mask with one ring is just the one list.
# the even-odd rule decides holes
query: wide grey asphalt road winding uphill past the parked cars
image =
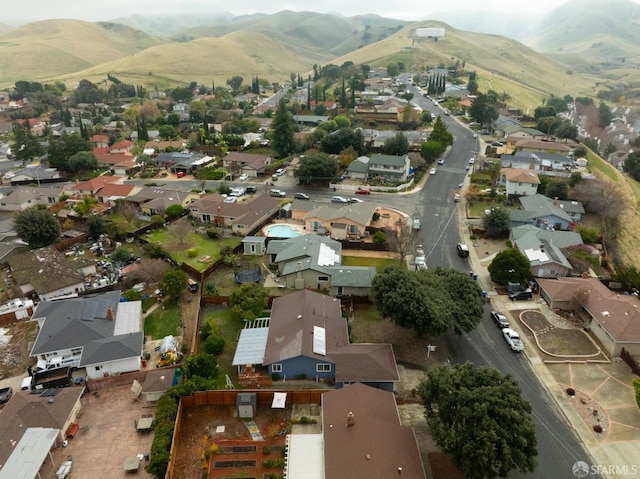
{"label": "wide grey asphalt road winding uphill past the parked cars", "polygon": [[[460,205],[453,201],[453,194],[459,191],[457,186],[467,174],[469,158],[478,151],[478,140],[473,138],[465,126],[445,116],[438,106],[423,98],[415,87],[408,88],[414,91],[414,101],[423,109],[442,116],[454,136],[454,144],[446,157],[445,165],[437,167],[437,173],[429,177],[417,198],[412,195],[404,199],[407,205],[415,202],[417,213],[421,215],[422,229],[419,237],[426,250],[427,265],[470,271],[469,261],[458,257],[455,248],[460,241],[457,222],[457,208]],[[454,364],[471,361],[478,366],[490,366],[502,373],[511,374],[520,384],[523,397],[531,403],[538,440],[539,465],[533,474],[512,471],[508,477],[572,478],[573,464],[588,458],[589,454],[574,435],[553,398],[538,381],[526,356],[515,354],[508,348],[489,317],[490,311],[491,308],[487,305],[482,323],[473,332],[460,336],[453,333],[446,335],[450,360]]]}

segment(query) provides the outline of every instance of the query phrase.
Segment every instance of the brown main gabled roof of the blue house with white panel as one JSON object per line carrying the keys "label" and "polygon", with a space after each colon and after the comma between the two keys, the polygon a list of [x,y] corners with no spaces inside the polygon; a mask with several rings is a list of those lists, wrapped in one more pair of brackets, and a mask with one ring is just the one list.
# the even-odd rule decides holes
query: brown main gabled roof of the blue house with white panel
{"label": "brown main gabled roof of the blue house with white panel", "polygon": [[340,301],[302,290],[274,299],[264,364],[305,356],[330,361],[314,352],[314,326],[324,329],[327,354],[349,344]]}

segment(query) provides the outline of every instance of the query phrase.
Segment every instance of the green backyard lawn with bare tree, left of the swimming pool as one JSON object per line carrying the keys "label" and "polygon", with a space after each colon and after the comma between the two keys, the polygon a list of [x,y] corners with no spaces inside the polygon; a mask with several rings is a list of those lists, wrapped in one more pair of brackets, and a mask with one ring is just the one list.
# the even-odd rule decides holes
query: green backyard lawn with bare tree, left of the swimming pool
{"label": "green backyard lawn with bare tree, left of the swimming pool", "polygon": [[224,246],[235,248],[241,241],[240,238],[214,240],[195,231],[181,234],[171,227],[151,231],[145,239],[160,244],[176,263],[186,263],[197,271],[204,271],[217,260]]}

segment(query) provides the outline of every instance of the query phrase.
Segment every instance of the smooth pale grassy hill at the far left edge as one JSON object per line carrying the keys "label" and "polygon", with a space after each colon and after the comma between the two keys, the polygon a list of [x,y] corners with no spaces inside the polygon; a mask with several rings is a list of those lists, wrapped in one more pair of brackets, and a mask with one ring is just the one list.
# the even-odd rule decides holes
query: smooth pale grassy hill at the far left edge
{"label": "smooth pale grassy hill at the far left edge", "polygon": [[78,72],[161,43],[146,33],[115,23],[30,23],[0,35],[0,85]]}

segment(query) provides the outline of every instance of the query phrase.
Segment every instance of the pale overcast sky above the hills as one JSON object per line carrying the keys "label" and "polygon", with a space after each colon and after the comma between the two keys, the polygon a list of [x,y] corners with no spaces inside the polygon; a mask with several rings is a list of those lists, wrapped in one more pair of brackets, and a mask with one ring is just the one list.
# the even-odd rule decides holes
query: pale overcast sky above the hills
{"label": "pale overcast sky above the hills", "polygon": [[[495,10],[509,13],[545,13],[567,0],[13,0],[2,2],[2,23],[52,18],[87,21],[110,20],[133,14],[208,14],[228,11],[235,15],[275,13],[282,10],[340,13],[353,16],[375,13],[399,20],[418,21],[438,11],[456,9]],[[605,0],[603,0],[605,1]],[[634,0],[640,1],[640,0]],[[433,18],[433,17],[431,17]]]}

